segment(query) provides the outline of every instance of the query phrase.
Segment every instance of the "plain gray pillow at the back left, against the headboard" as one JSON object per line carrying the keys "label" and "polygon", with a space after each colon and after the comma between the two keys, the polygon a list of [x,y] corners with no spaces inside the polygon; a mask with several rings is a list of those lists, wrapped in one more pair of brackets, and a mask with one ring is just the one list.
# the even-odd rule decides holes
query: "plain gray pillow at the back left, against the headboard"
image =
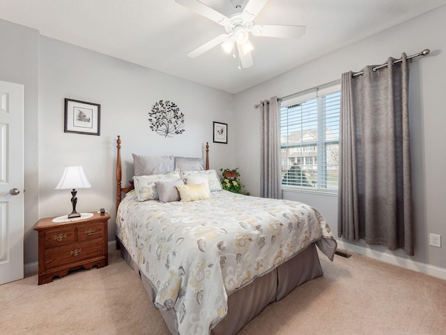
{"label": "plain gray pillow at the back left, against the headboard", "polygon": [[174,156],[132,156],[135,176],[174,172]]}

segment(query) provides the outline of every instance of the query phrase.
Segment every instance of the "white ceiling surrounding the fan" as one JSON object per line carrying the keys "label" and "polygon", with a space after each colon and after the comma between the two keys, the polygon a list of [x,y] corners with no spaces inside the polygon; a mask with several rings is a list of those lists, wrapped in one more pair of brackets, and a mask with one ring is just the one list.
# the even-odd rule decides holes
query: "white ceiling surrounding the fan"
{"label": "white ceiling surrounding the fan", "polygon": [[[226,16],[236,13],[231,0],[201,2]],[[195,59],[187,57],[225,31],[174,0],[0,0],[0,18],[38,29],[43,36],[235,94],[445,3],[269,0],[255,24],[304,25],[307,33],[298,40],[252,36],[254,66],[242,70],[238,59],[218,46]]]}

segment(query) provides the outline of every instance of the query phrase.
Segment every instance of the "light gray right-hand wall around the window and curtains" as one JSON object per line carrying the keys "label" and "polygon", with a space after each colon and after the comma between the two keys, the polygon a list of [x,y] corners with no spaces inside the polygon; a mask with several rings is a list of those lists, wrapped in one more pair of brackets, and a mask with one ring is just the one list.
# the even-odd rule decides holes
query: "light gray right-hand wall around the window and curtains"
{"label": "light gray right-hand wall around the window and curtains", "polygon": [[[295,68],[268,82],[236,95],[238,146],[237,163],[247,189],[259,195],[259,112],[254,104],[271,96],[286,96],[357,71],[371,64],[383,64],[401,52],[415,54],[429,48],[431,54],[410,64],[410,131],[413,159],[416,262],[446,269],[445,166],[446,112],[443,98],[446,74],[446,6],[361,40],[353,45]],[[321,209],[337,235],[337,197],[284,192],[284,198],[307,202]],[[429,233],[443,235],[443,247],[429,246]],[[345,241],[344,241],[345,242]],[[346,244],[348,246],[348,244]],[[403,251],[386,251],[383,246],[362,242],[351,244],[408,259]]]}

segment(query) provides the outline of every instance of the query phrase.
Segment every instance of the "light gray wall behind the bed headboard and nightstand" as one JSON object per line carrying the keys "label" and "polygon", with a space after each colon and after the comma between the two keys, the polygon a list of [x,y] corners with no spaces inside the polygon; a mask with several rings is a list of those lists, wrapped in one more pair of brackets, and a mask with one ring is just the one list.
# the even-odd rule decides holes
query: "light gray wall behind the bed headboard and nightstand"
{"label": "light gray wall behind the bed headboard and nightstand", "polygon": [[[234,165],[232,94],[43,36],[39,57],[40,217],[70,213],[70,191],[54,187],[65,165],[83,165],[92,187],[77,190],[77,211],[107,209],[114,240],[116,135],[122,140],[123,186],[133,174],[132,152],[203,157],[208,141],[211,168]],[[100,104],[100,136],[63,132],[64,98]],[[163,137],[149,128],[148,112],[161,99],[185,114],[183,134]],[[213,143],[213,121],[228,124],[228,144]]]}

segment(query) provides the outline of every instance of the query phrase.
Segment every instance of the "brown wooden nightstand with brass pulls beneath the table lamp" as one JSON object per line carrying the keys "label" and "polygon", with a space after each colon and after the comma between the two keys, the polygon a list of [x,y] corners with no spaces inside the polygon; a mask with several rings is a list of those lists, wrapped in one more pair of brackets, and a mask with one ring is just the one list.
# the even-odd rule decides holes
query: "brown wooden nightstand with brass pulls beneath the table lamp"
{"label": "brown wooden nightstand with brass pulls beneath the table lamp", "polygon": [[65,276],[70,270],[108,265],[110,216],[92,214],[77,221],[54,222],[54,218],[38,221],[34,228],[39,234],[38,285],[52,282],[54,276]]}

